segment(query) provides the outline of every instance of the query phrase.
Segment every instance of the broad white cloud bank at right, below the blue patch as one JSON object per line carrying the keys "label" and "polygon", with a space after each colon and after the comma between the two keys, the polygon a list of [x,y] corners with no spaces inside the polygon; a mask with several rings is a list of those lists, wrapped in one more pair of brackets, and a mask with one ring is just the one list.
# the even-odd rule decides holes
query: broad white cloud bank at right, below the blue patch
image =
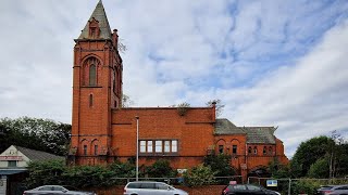
{"label": "broad white cloud bank at right, below the blue patch", "polygon": [[299,142],[343,130],[348,135],[348,23],[331,29],[296,66],[266,75],[248,89],[222,90],[227,116],[237,125],[279,126],[293,154]]}

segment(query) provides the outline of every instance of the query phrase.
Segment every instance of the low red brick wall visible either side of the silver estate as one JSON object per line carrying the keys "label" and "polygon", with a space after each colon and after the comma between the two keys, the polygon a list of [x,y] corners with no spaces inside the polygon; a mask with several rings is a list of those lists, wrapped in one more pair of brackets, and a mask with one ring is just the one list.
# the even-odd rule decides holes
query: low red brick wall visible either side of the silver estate
{"label": "low red brick wall visible either side of the silver estate", "polygon": [[[187,187],[187,186],[175,186],[176,188],[184,190],[189,193],[189,195],[220,195],[223,187],[225,185],[204,185],[204,186],[197,186],[197,187]],[[98,195],[123,195],[122,186],[114,186],[104,190],[94,190]]]}

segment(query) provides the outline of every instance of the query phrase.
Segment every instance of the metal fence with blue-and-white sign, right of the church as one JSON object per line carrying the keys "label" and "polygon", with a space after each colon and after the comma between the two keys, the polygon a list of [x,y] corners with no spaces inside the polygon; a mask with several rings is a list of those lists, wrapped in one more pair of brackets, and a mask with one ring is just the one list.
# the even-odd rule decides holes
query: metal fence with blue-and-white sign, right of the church
{"label": "metal fence with blue-and-white sign, right of the church", "polygon": [[[276,186],[268,186],[268,181],[276,181]],[[333,179],[274,179],[249,177],[248,183],[264,186],[266,188],[281,192],[284,195],[307,194],[314,195],[316,190],[322,185],[348,184],[348,178]]]}

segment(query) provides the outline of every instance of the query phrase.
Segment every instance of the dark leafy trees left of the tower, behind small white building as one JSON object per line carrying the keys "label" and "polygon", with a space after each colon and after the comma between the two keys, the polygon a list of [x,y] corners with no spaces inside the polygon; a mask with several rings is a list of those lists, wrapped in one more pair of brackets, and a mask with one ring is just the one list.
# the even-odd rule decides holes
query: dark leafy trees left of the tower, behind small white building
{"label": "dark leafy trees left of the tower, behind small white building", "polygon": [[49,119],[21,117],[1,118],[0,127],[5,130],[1,135],[1,150],[18,145],[57,155],[65,155],[70,143],[71,125]]}

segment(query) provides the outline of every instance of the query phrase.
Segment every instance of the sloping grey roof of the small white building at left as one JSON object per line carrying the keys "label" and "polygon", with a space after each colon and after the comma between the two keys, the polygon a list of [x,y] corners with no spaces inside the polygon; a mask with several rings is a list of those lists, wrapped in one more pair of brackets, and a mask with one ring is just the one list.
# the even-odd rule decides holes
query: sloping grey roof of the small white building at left
{"label": "sloping grey roof of the small white building at left", "polygon": [[28,157],[32,161],[65,159],[63,156],[57,156],[42,151],[35,151],[26,147],[15,146],[21,153]]}

